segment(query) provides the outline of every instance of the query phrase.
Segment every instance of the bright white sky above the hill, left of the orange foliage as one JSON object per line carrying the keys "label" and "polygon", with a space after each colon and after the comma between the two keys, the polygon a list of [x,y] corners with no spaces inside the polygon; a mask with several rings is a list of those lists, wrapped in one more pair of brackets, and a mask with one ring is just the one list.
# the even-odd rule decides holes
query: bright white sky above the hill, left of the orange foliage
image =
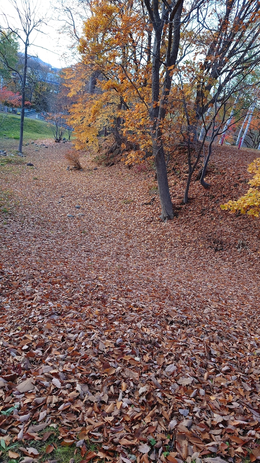
{"label": "bright white sky above the hill, left of the orange foliage", "polygon": [[[17,0],[18,5],[21,5],[21,1]],[[72,0],[73,1],[73,0]],[[0,13],[4,13],[12,27],[20,28],[18,14],[15,12],[11,2],[5,0],[5,6],[3,6],[4,0],[0,0]],[[36,4],[36,1],[30,0],[30,4]],[[53,5],[55,2],[53,2]],[[38,0],[37,8],[39,8],[39,16],[47,16],[49,19],[48,25],[42,25],[41,31],[33,31],[30,35],[30,48],[28,53],[31,56],[38,56],[45,63],[49,63],[56,68],[64,68],[72,63],[76,62],[74,53],[69,50],[71,44],[70,39],[64,34],[59,33],[60,21],[55,16],[58,16],[54,6],[52,6],[52,0]],[[6,21],[4,16],[0,16],[0,24],[5,26]],[[21,43],[21,49],[23,50],[23,44]]]}

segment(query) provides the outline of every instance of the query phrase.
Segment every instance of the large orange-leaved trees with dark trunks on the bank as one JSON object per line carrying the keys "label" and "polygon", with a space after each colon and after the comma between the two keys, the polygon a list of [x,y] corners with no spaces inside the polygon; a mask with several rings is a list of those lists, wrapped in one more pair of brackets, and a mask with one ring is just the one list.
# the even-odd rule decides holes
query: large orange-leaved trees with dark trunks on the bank
{"label": "large orange-leaved trees with dark trunks on the bank", "polygon": [[200,182],[209,188],[206,167],[240,91],[236,81],[260,63],[256,3],[226,0],[217,10],[206,1],[93,0],[79,40],[81,63],[67,71],[78,146],[109,125],[122,151],[125,139],[132,143],[126,162],[152,155],[163,220],[174,216],[165,153],[186,144],[190,182],[206,147]]}

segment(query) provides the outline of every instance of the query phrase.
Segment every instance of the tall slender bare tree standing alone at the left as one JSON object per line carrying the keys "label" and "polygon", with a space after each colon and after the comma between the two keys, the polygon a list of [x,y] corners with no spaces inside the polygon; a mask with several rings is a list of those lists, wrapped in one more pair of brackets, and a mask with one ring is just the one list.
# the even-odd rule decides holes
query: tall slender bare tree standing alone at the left
{"label": "tall slender bare tree standing alone at the left", "polygon": [[[47,24],[46,15],[42,16],[37,1],[34,0],[9,0],[12,5],[14,13],[18,16],[19,27],[15,27],[13,24],[13,18],[7,17],[6,13],[2,12],[1,16],[7,25],[8,31],[15,34],[24,44],[24,60],[23,60],[23,71],[19,73],[17,69],[13,69],[9,63],[8,55],[1,56],[5,62],[6,67],[11,71],[19,75],[22,83],[22,105],[21,105],[21,122],[20,122],[20,138],[19,138],[19,152],[23,150],[23,138],[24,138],[24,102],[25,102],[25,87],[27,77],[27,62],[28,62],[28,48],[32,44],[30,42],[31,33],[33,31],[40,31],[42,24]],[[11,24],[12,21],[12,24]],[[2,25],[0,25],[1,32],[4,31]],[[1,52],[0,52],[1,53]]]}

